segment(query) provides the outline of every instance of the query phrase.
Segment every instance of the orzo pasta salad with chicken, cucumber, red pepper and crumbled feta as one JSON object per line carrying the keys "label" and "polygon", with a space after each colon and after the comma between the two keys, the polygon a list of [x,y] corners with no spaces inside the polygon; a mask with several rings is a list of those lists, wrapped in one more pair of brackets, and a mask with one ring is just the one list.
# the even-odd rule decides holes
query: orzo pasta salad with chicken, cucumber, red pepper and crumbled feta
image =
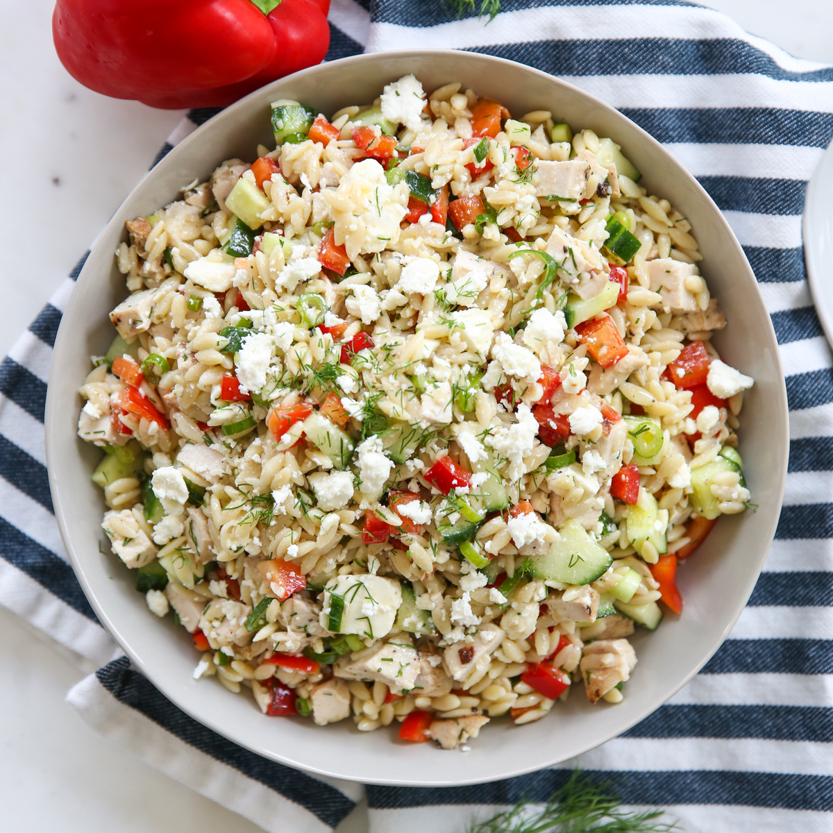
{"label": "orzo pasta salad with chicken, cucumber, red pepper and crumbled feta", "polygon": [[689,222],[612,138],[459,83],[272,127],[127,222],[78,425],[112,550],[267,715],[449,749],[621,701],[750,499]]}

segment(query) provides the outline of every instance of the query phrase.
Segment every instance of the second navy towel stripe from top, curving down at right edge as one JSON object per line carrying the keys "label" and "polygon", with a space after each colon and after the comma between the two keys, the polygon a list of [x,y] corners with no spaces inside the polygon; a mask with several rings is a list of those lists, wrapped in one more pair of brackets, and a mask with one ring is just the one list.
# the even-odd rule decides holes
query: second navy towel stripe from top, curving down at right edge
{"label": "second navy towel stripe from top, curving down at right edge", "polygon": [[[470,52],[505,57],[556,76],[738,75],[752,73],[778,81],[833,81],[833,67],[790,72],[751,43],[730,38],[681,40],[636,37],[627,41],[541,41],[471,47]],[[542,105],[543,106],[543,105]],[[785,142],[788,137],[785,137]]]}

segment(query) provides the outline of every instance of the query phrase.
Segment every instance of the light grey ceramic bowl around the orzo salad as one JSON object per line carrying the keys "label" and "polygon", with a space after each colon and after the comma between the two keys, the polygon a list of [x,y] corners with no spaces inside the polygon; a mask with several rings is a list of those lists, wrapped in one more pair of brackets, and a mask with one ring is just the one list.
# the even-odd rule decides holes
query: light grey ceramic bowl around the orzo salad
{"label": "light grey ceramic bowl around the orzo salad", "polygon": [[[107,312],[125,297],[113,251],[124,222],[150,214],[195,178],[229,157],[253,159],[273,142],[269,102],[288,97],[332,113],[372,101],[382,85],[414,72],[427,91],[451,81],[473,87],[521,115],[546,108],[574,127],[591,127],[621,143],[644,172],[649,192],[667,197],[691,218],[701,243],[702,272],[720,299],[729,327],[716,346],[727,362],[755,377],[746,397],[741,452],[756,513],[720,521],[686,561],[679,583],[681,618],[666,616],[656,633],[634,637],[639,664],[618,706],[591,706],[576,686],[566,705],[531,726],[494,721],[471,743],[465,761],[432,744],[398,741],[392,730],[362,734],[352,721],[322,729],[302,719],[262,716],[251,697],[213,681],[194,681],[191,639],[170,618],[147,611],[135,576],[104,546],[102,495],[90,482],[101,452],[76,435],[77,387],[91,354],[112,338]],[[471,52],[385,52],[298,72],[228,107],[193,132],[148,173],[97,239],[64,312],[52,357],[46,442],[52,499],[63,541],[97,616],[135,665],[165,696],[213,730],[274,761],[327,776],[377,784],[451,786],[515,776],[592,749],[633,726],[683,686],[720,646],[740,615],[766,557],[781,508],[787,461],[787,406],[770,317],[755,278],[726,220],[696,180],[646,132],[596,98],[517,63]]]}

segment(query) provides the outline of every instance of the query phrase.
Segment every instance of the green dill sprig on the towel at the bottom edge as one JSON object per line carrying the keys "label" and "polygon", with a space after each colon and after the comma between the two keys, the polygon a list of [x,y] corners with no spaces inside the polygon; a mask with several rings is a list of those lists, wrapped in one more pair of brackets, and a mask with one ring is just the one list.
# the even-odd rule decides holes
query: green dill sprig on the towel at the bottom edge
{"label": "green dill sprig on the towel at the bottom edge", "polygon": [[624,812],[605,784],[579,771],[544,806],[521,799],[510,810],[472,822],[468,833],[670,833],[676,823],[658,821],[662,810]]}

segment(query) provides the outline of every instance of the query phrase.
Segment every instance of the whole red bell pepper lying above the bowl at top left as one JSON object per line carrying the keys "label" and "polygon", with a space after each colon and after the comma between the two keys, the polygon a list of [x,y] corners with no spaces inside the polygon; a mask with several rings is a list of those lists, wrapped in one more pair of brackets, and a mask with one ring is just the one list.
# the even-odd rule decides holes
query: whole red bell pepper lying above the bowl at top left
{"label": "whole red bell pepper lying above the bowl at top left", "polygon": [[52,39],[70,75],[151,107],[225,107],[322,61],[330,0],[57,0]]}

